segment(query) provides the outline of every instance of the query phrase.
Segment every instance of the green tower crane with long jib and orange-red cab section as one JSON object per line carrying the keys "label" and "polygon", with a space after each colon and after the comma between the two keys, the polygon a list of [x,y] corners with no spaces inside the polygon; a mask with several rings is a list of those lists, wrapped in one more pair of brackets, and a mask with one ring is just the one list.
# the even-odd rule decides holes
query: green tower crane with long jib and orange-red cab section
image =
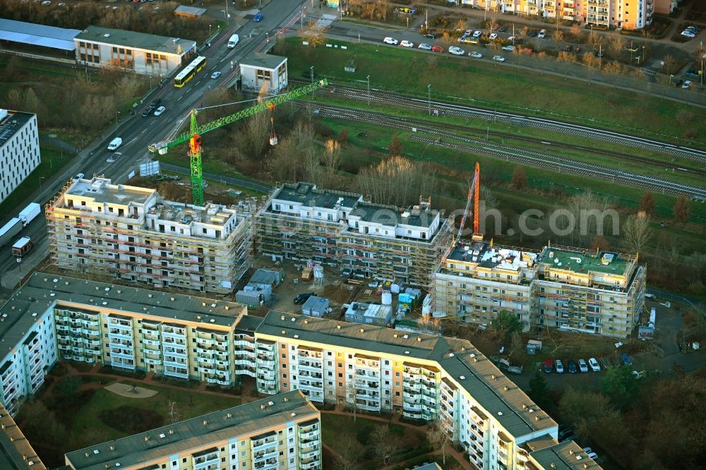
{"label": "green tower crane with long jib and orange-red cab section", "polygon": [[164,155],[167,153],[169,147],[174,147],[175,145],[182,144],[189,141],[189,164],[191,167],[191,197],[193,199],[193,205],[203,205],[203,168],[201,167],[201,135],[215,131],[217,128],[227,126],[229,123],[238,121],[239,119],[244,119],[246,117],[253,116],[253,114],[258,114],[265,109],[273,109],[277,104],[282,104],[289,100],[296,100],[299,97],[306,95],[309,92],[318,90],[328,85],[328,81],[324,78],[316,83],[311,83],[311,85],[306,85],[291,92],[285,93],[284,95],[279,95],[269,100],[263,100],[254,106],[243,109],[230,116],[225,116],[215,121],[202,124],[201,126],[196,123],[196,114],[198,114],[196,109],[191,109],[191,126],[189,131],[177,136],[172,140],[167,140],[164,142],[158,142],[150,145],[148,150],[152,153],[158,153]]}

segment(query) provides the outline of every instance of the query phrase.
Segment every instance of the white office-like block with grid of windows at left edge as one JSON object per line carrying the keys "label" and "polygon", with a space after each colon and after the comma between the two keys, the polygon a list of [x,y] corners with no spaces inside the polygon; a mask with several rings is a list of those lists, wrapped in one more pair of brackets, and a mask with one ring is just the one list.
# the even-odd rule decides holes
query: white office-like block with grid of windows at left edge
{"label": "white office-like block with grid of windows at left edge", "polygon": [[37,114],[0,109],[0,203],[41,161]]}

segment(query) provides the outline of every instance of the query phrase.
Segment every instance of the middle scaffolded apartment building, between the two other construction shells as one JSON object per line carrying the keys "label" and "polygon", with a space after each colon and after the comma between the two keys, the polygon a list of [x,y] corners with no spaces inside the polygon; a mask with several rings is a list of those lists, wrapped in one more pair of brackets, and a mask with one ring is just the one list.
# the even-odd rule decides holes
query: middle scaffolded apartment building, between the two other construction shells
{"label": "middle scaffolded apartment building, between the two other construction shells", "polygon": [[423,200],[400,209],[360,194],[285,183],[258,213],[256,251],[337,266],[345,276],[428,287],[450,234],[450,222]]}

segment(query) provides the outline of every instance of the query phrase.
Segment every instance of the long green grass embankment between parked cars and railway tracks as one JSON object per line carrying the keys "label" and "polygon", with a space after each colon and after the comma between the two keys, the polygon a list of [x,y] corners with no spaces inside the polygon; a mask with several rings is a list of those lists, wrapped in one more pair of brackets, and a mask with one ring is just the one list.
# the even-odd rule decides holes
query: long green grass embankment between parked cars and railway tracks
{"label": "long green grass embankment between parked cars and railway tracks", "polygon": [[[426,97],[426,87],[431,84],[435,98],[595,126],[625,126],[625,131],[630,128],[633,132],[677,137],[683,136],[684,131],[676,122],[681,109],[693,111],[697,116],[695,123],[706,119],[706,112],[697,107],[604,86],[568,86],[563,78],[498,67],[489,61],[417,54],[382,44],[330,43],[345,45],[347,49],[313,49],[301,46],[301,38],[290,37],[282,45],[283,50],[277,53],[289,58],[292,77],[309,77],[313,66],[317,76],[357,83],[365,88],[366,77],[370,75],[373,88],[419,97]],[[354,54],[357,69],[346,74],[344,66]],[[694,140],[706,142],[706,130],[700,127]]]}

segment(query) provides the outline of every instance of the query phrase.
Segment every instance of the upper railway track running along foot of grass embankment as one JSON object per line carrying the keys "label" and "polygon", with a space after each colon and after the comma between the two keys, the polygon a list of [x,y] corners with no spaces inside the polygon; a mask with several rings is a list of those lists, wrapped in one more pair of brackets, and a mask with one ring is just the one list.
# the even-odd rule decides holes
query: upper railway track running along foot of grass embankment
{"label": "upper railway track running along foot of grass embankment", "polygon": [[[293,83],[308,83],[306,80],[299,80],[297,78],[290,78],[289,81]],[[428,111],[431,107],[431,109],[437,109],[439,112],[443,112],[446,115],[474,118],[480,117],[483,119],[493,119],[494,121],[515,123],[534,128],[543,128],[551,131],[605,140],[612,143],[620,143],[631,147],[657,150],[659,152],[665,152],[671,155],[678,155],[688,159],[693,159],[696,162],[706,163],[706,149],[686,147],[683,145],[662,142],[660,140],[642,138],[638,135],[630,135],[626,133],[608,131],[601,128],[594,128],[591,126],[583,126],[581,124],[557,121],[556,119],[546,119],[535,116],[527,116],[524,114],[499,112],[494,109],[465,106],[462,104],[423,100],[420,98],[400,95],[395,92],[383,92],[380,90],[370,90],[368,92],[367,90],[349,85],[330,86],[318,91],[318,93],[325,93],[327,95],[342,97],[348,100],[364,102],[369,101],[371,104],[383,104],[385,106],[405,107],[423,111]]]}

